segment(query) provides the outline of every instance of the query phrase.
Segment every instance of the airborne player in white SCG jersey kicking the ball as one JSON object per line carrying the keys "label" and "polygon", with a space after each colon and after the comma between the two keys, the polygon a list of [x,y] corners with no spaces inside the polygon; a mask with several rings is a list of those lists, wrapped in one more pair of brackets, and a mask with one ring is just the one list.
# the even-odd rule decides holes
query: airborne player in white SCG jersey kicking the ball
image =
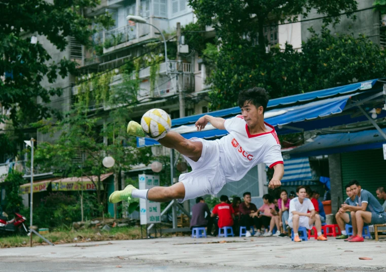
{"label": "airborne player in white SCG jersey kicking the ball", "polygon": [[[199,138],[185,139],[180,134],[169,131],[158,139],[165,147],[179,151],[192,167],[192,172],[180,175],[179,181],[170,187],[153,187],[138,190],[132,185],[115,191],[109,201],[130,202],[132,198],[142,198],[156,202],[177,199],[180,203],[203,195],[218,193],[227,181],[240,180],[254,166],[265,163],[274,169],[269,188],[281,185],[284,174],[280,142],[274,128],[264,122],[264,111],[268,95],[263,88],[241,91],[238,104],[241,114],[231,119],[204,115],[196,122],[197,130],[207,123],[228,135],[214,141]],[[141,125],[131,121],[127,127],[130,135],[145,137]]]}

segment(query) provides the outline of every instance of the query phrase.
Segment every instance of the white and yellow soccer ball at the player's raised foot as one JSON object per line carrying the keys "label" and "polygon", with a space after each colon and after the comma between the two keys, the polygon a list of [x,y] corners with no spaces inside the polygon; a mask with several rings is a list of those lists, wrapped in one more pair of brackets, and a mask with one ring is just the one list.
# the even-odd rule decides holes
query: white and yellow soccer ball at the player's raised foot
{"label": "white and yellow soccer ball at the player's raised foot", "polygon": [[171,119],[166,111],[153,108],[142,116],[141,126],[150,138],[162,138],[170,130]]}

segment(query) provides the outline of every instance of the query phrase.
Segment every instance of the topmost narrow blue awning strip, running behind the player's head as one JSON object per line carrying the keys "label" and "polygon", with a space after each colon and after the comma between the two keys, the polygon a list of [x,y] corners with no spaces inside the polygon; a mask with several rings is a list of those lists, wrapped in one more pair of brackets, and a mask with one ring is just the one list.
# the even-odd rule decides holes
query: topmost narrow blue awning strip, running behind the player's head
{"label": "topmost narrow blue awning strip, running behind the player's head", "polygon": [[[368,89],[371,89],[376,82],[377,80],[370,80],[370,81],[358,82],[358,83],[353,83],[345,86],[340,86],[340,87],[335,87],[335,88],[330,88],[330,89],[325,89],[320,91],[275,98],[275,99],[269,100],[267,108],[269,109],[269,108],[274,108],[274,107],[283,106],[283,105],[291,105],[298,102],[324,99],[324,98],[333,97],[339,94],[354,93],[358,90],[368,90]],[[196,114],[196,115],[191,115],[183,118],[173,119],[171,121],[171,126],[177,127],[177,126],[186,125],[186,124],[193,124],[201,116],[205,114],[209,114],[215,117],[226,117],[226,116],[236,115],[239,113],[240,113],[239,107],[221,109],[221,110],[216,110],[208,113]]]}

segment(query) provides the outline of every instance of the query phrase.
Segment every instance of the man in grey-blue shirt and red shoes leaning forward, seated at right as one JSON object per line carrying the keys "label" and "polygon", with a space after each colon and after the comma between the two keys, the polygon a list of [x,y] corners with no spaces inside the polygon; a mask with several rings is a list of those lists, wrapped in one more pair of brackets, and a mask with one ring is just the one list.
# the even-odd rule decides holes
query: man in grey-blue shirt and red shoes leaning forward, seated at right
{"label": "man in grey-blue shirt and red shoes leaning forward, seated at right", "polygon": [[349,206],[343,204],[342,208],[354,212],[353,220],[353,237],[348,238],[348,242],[363,242],[363,226],[364,224],[385,224],[386,212],[376,198],[367,190],[362,189],[358,181],[352,181],[350,188],[358,196],[359,206]]}

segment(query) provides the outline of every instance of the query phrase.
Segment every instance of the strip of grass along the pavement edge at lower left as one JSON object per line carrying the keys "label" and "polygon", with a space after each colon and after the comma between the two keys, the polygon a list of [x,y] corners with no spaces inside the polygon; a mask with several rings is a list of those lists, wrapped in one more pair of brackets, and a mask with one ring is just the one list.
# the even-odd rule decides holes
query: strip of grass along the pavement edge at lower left
{"label": "strip of grass along the pavement edge at lower left", "polygon": [[[103,231],[99,228],[82,230],[59,228],[43,236],[55,245],[91,241],[133,240],[141,238],[141,229],[139,227],[114,227],[111,231]],[[48,245],[37,235],[32,235],[32,244]],[[0,248],[27,246],[29,246],[28,236],[8,236],[0,239]]]}

